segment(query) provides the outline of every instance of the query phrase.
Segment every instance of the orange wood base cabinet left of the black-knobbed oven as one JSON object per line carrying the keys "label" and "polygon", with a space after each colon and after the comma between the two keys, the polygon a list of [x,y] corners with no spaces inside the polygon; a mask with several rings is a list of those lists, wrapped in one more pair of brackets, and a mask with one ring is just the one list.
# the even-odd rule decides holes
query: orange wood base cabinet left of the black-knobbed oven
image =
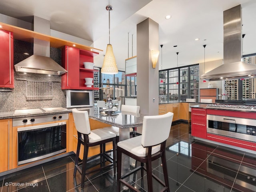
{"label": "orange wood base cabinet left of the black-knobbed oven", "polygon": [[12,169],[12,119],[0,120],[0,172]]}

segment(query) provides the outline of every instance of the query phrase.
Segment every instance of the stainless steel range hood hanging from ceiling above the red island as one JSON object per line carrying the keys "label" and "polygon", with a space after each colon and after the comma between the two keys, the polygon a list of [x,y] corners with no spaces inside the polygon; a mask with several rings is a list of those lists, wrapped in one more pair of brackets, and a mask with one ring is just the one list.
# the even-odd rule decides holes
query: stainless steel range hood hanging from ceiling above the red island
{"label": "stainless steel range hood hanging from ceiling above the red island", "polygon": [[223,12],[224,53],[223,64],[203,74],[201,80],[216,81],[256,76],[256,65],[242,58],[242,8],[235,6]]}

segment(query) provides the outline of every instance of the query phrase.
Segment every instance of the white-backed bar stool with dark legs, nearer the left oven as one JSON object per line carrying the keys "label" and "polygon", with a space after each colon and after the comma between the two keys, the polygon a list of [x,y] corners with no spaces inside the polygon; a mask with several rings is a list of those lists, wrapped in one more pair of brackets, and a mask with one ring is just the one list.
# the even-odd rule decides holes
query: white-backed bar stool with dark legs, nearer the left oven
{"label": "white-backed bar stool with dark legs, nearer the left oven", "polygon": [[[78,133],[78,144],[76,150],[76,160],[74,168],[74,177],[76,176],[76,170],[82,175],[81,189],[84,187],[85,175],[91,172],[101,170],[110,166],[114,166],[114,174],[116,174],[116,134],[105,130],[103,128],[91,130],[89,116],[87,111],[79,111],[72,109],[76,130]],[[107,142],[113,143],[113,156],[110,156],[105,150],[105,144]],[[84,145],[84,156],[82,162],[78,163],[80,146]],[[100,146],[100,154],[88,158],[88,148],[92,146]],[[92,160],[100,156],[101,166],[93,170],[86,172],[86,165],[89,160]],[[108,160],[110,164],[104,166],[105,161]],[[79,167],[82,164],[82,169]]]}

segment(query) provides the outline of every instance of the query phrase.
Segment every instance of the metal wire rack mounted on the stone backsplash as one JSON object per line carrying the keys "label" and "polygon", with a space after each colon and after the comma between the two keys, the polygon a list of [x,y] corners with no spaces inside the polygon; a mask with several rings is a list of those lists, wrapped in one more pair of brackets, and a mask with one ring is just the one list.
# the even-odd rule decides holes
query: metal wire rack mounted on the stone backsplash
{"label": "metal wire rack mounted on the stone backsplash", "polygon": [[26,81],[26,100],[50,100],[53,86],[50,81]]}

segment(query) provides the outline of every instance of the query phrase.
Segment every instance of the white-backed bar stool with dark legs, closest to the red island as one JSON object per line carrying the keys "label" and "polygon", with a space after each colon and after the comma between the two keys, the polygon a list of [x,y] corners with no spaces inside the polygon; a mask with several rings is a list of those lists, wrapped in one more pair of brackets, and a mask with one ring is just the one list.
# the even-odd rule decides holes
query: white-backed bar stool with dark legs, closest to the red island
{"label": "white-backed bar stool with dark legs, closest to the red island", "polygon": [[[144,116],[142,135],[117,143],[118,192],[120,192],[121,183],[134,191],[140,192],[140,190],[136,189],[124,179],[131,174],[136,174],[138,170],[141,170],[142,178],[143,170],[146,170],[148,192],[153,191],[152,177],[163,186],[161,192],[170,191],[168,184],[165,147],[166,140],[169,137],[170,129],[172,126],[172,118],[172,112],[168,112],[164,115]],[[135,159],[136,161],[141,162],[140,166],[134,168],[128,173],[125,173],[124,175],[121,175],[122,154],[125,154]],[[164,182],[152,173],[152,161],[158,158],[161,158],[162,160]],[[146,168],[144,168],[144,163],[146,163]]]}

